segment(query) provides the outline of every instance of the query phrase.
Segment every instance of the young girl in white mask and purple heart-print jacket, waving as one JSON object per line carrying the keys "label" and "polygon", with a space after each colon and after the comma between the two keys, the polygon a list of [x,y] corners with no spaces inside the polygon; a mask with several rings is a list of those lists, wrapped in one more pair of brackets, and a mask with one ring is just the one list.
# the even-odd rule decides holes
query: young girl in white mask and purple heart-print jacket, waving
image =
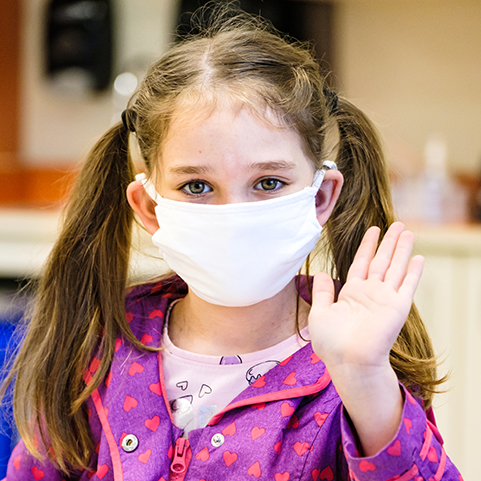
{"label": "young girl in white mask and purple heart-print jacket, waving", "polygon": [[[308,50],[214,18],[80,174],[10,376],[6,479],[459,481],[371,124]],[[134,212],[175,274],[126,290]],[[312,285],[321,226],[338,282]]]}

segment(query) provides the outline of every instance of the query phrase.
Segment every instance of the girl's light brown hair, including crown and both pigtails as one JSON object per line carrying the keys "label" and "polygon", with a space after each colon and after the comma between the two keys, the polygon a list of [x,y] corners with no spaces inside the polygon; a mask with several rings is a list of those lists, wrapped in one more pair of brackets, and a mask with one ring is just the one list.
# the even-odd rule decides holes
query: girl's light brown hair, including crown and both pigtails
{"label": "girl's light brown hair, including crown and both pigtails", "polygon": [[[345,182],[325,233],[333,275],[344,282],[365,231],[377,225],[384,234],[394,215],[372,124],[346,99],[339,97],[335,105],[326,87],[308,47],[224,5],[200,34],[174,45],[150,68],[126,120],[150,175],[172,116],[181,108],[195,109],[195,101],[200,106],[206,98],[215,102],[227,94],[261,117],[270,109],[282,125],[299,133],[316,167],[326,157],[326,132],[334,121],[339,130],[336,162]],[[126,199],[134,180],[129,136],[129,129],[118,123],[90,152],[7,379],[15,379],[15,418],[26,446],[38,455],[33,437],[39,432],[64,472],[89,464],[92,441],[84,401],[108,373],[117,336],[149,349],[135,339],[124,314],[133,220]],[[86,386],[83,375],[93,352],[101,364]],[[399,379],[429,406],[439,382],[436,361],[414,307],[391,363]]]}

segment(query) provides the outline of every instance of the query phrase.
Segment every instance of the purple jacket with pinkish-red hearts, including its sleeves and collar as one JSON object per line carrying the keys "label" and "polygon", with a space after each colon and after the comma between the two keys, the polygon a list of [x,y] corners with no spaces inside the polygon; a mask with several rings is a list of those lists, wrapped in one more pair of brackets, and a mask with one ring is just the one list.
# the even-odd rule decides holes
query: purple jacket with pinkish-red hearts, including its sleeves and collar
{"label": "purple jacket with pinkish-red hearts, including its sleeves and collar", "polygon": [[[158,346],[169,303],[186,294],[175,278],[136,287],[126,301],[133,333]],[[98,360],[93,358],[90,372]],[[87,382],[89,379],[87,374]],[[395,438],[372,457],[358,456],[356,436],[322,361],[310,344],[259,377],[207,427],[189,433],[173,425],[161,353],[117,339],[110,374],[87,402],[96,445],[92,472],[70,480],[460,481],[435,426],[405,393]],[[9,462],[8,481],[67,480],[23,442]]]}

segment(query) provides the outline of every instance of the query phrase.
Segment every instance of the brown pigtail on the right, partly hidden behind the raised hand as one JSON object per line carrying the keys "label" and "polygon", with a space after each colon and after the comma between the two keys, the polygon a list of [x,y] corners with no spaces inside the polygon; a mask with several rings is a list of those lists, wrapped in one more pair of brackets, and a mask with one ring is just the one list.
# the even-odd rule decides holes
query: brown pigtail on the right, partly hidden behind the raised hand
{"label": "brown pigtail on the right, partly hidden behind the raised hand", "polygon": [[[358,108],[339,98],[332,115],[339,129],[337,165],[344,186],[326,224],[334,272],[342,284],[366,230],[376,225],[384,236],[394,222],[389,181],[377,132]],[[426,328],[413,305],[390,355],[398,379],[424,400],[427,409],[436,387],[437,361]]]}

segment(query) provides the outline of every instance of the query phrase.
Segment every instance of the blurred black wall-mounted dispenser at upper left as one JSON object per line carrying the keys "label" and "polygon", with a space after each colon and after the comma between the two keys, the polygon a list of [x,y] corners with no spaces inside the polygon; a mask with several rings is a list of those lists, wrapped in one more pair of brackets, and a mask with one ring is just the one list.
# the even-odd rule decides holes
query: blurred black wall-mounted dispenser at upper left
{"label": "blurred black wall-mounted dispenser at upper left", "polygon": [[110,0],[51,0],[46,21],[46,70],[70,91],[103,91],[112,78]]}

